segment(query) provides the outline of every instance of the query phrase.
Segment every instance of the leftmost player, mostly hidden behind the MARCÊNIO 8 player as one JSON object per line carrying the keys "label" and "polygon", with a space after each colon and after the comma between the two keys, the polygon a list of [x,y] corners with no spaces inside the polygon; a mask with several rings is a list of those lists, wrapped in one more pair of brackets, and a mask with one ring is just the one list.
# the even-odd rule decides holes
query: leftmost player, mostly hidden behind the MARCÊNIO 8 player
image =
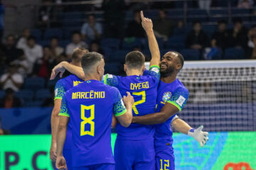
{"label": "leftmost player, mostly hidden behind the MARC\u00caNIO 8 player", "polygon": [[[72,54],[72,62],[71,64],[81,67],[81,59],[82,56],[85,55],[85,53],[88,52],[84,48],[76,48]],[[59,122],[59,116],[58,113],[60,113],[60,105],[61,100],[63,98],[63,95],[65,94],[65,91],[68,91],[73,86],[76,86],[82,82],[81,79],[76,77],[75,75],[70,75],[68,77],[65,77],[63,79],[60,79],[55,84],[55,98],[54,98],[54,107],[51,115],[51,130],[52,130],[52,140],[50,145],[50,160],[52,162],[56,161],[56,133],[57,133],[57,127]],[[72,159],[71,159],[71,140],[72,140],[72,133],[70,124],[68,125],[67,130],[67,137],[65,140],[65,145],[63,149],[63,155],[66,158],[66,162],[68,165],[68,169],[72,170]]]}

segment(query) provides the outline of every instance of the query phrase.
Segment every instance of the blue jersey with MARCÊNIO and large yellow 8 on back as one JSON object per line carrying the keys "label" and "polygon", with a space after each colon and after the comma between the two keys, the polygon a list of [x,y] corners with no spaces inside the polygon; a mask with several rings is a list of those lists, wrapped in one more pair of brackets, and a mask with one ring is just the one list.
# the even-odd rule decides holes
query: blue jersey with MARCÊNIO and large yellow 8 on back
{"label": "blue jersey with MARC\u00caNIO and large yellow 8 on back", "polygon": [[59,115],[70,117],[74,167],[114,164],[112,116],[126,111],[118,89],[97,80],[85,81],[65,93]]}

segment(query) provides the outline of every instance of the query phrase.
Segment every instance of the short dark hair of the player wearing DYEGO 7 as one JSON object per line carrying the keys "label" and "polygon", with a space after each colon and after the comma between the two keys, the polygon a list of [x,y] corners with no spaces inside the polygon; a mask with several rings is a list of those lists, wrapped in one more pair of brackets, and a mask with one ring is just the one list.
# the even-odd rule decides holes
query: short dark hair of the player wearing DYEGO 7
{"label": "short dark hair of the player wearing DYEGO 7", "polygon": [[145,56],[142,52],[132,51],[125,57],[125,64],[129,69],[140,69],[145,62]]}

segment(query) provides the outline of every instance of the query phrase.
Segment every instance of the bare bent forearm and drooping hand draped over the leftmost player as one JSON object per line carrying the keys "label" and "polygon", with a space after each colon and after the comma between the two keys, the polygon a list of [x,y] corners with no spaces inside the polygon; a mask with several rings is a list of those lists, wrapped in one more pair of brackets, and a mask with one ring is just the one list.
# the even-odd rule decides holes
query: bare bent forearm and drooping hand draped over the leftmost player
{"label": "bare bent forearm and drooping hand draped over the leftmost player", "polygon": [[73,64],[70,64],[68,62],[60,62],[57,64],[53,69],[52,73],[50,75],[50,79],[55,79],[55,77],[60,73],[60,77],[63,76],[63,73],[65,72],[65,69],[68,70],[68,72],[75,74],[80,79],[85,79],[85,73],[83,72],[81,67],[75,66]]}

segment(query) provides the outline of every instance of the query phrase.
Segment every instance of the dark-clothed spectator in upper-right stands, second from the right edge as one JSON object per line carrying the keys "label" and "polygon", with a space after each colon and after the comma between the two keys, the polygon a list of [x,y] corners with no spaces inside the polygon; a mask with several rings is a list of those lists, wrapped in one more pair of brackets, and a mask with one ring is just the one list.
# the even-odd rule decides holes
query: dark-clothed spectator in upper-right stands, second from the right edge
{"label": "dark-clothed spectator in upper-right stands, second from the right edge", "polygon": [[229,31],[228,46],[241,47],[247,46],[247,30],[242,26],[242,19],[235,18],[233,30]]}

